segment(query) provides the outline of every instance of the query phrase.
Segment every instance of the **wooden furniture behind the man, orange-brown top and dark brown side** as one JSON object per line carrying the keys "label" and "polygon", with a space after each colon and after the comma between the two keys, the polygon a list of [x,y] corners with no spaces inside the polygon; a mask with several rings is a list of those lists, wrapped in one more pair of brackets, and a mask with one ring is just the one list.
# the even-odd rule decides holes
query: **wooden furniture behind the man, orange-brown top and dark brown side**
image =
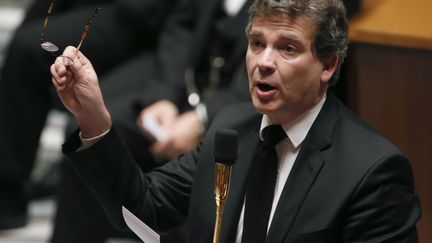
{"label": "wooden furniture behind the man, orange-brown top and dark brown side", "polygon": [[350,19],[348,105],[410,159],[432,242],[432,1],[362,0]]}

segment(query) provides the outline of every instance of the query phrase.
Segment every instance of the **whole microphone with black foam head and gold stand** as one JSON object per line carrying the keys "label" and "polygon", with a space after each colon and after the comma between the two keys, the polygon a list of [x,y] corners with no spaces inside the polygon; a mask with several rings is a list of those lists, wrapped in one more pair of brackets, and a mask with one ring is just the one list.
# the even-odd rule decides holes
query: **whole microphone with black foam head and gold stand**
{"label": "whole microphone with black foam head and gold stand", "polygon": [[237,159],[238,133],[231,129],[216,131],[214,140],[216,220],[213,243],[219,243],[225,200],[228,197],[231,166]]}

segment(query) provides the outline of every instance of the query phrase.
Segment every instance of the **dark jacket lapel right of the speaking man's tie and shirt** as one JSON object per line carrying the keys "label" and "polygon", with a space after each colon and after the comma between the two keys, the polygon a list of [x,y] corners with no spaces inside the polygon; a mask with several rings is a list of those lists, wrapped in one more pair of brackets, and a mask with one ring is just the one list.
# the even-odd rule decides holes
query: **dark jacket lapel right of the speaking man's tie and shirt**
{"label": "dark jacket lapel right of the speaking man's tie and shirt", "polygon": [[315,178],[325,163],[336,123],[336,99],[331,93],[306,136],[279,199],[266,242],[283,242]]}

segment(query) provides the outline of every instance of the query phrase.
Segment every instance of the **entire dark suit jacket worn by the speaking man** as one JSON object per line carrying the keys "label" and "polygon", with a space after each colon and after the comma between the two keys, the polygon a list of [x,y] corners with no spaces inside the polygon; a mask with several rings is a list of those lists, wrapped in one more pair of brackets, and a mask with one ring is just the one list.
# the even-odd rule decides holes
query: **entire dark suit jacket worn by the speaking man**
{"label": "entire dark suit jacket worn by the speaking man", "polygon": [[[113,129],[94,146],[64,152],[111,220],[124,227],[125,205],[152,227],[188,221],[189,242],[211,242],[214,227],[214,132],[239,132],[221,242],[234,242],[244,184],[261,116],[251,104],[228,107],[193,152],[144,175]],[[408,160],[390,142],[328,98],[285,184],[266,242],[417,242],[419,201]]]}

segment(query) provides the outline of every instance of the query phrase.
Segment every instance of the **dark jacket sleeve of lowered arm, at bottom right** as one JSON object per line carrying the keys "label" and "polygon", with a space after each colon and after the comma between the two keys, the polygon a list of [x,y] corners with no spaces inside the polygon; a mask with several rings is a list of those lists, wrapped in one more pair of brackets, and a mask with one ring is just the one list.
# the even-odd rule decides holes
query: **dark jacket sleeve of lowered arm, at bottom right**
{"label": "dark jacket sleeve of lowered arm, at bottom right", "polygon": [[420,205],[404,156],[393,154],[375,163],[351,200],[344,242],[418,242]]}

